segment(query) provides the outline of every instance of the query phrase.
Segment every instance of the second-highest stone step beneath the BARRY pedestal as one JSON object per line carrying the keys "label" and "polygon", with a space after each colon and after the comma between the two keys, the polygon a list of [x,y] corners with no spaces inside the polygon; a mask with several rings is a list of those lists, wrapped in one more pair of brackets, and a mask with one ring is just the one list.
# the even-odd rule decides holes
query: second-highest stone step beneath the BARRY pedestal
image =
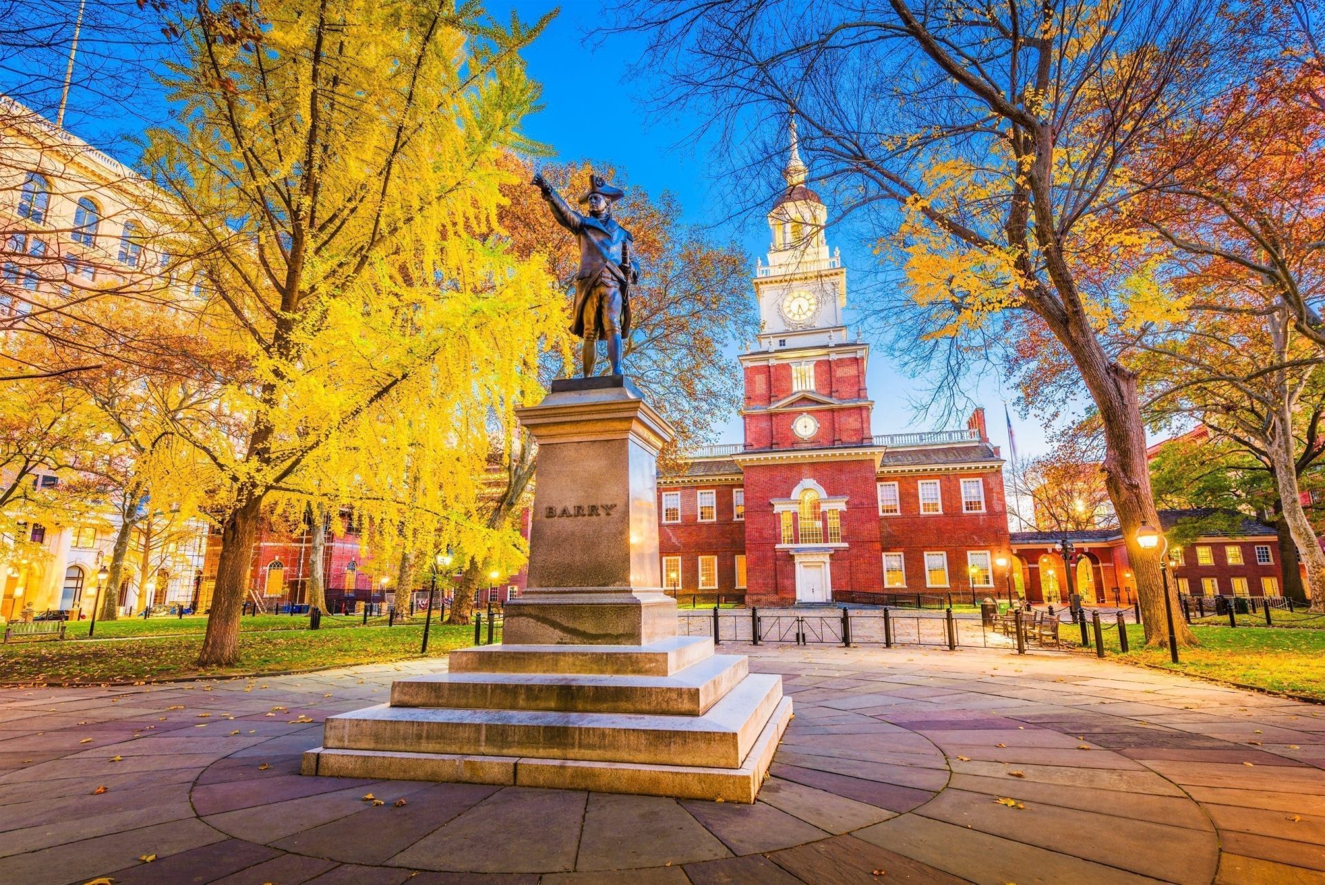
{"label": "second-highest stone step beneath the BARRY pedestal", "polygon": [[672,676],[431,673],[391,684],[391,706],[702,715],[749,674],[743,654],[712,654]]}

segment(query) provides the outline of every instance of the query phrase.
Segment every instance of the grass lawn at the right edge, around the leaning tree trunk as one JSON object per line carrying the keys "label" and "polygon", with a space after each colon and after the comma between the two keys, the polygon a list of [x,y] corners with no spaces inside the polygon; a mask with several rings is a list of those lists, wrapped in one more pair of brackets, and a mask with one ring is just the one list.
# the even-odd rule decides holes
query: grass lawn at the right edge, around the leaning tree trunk
{"label": "grass lawn at the right edge, around the leaning tree trunk", "polygon": [[[1130,652],[1118,651],[1117,627],[1104,632],[1104,648],[1109,657],[1121,661],[1325,701],[1325,631],[1198,625],[1194,632],[1200,645],[1179,649],[1177,665],[1169,660],[1167,649],[1142,647],[1145,633],[1137,624],[1128,625]],[[1079,640],[1080,632],[1065,629],[1063,636],[1075,644],[1073,637]]]}

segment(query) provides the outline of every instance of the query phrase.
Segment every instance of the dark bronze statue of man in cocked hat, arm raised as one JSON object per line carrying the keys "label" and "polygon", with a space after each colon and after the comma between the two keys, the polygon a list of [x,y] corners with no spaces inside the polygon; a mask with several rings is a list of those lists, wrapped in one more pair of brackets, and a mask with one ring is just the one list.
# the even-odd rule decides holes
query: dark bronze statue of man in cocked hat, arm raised
{"label": "dark bronze statue of man in cocked hat, arm raised", "polygon": [[640,276],[632,260],[633,237],[612,217],[612,204],[625,196],[602,175],[590,176],[590,189],[580,197],[588,215],[572,209],[562,195],[535,174],[533,182],[553,209],[553,217],[575,234],[580,248],[580,269],[575,274],[575,305],[571,334],[584,339],[580,368],[594,374],[598,340],[607,342],[612,374],[621,374],[621,339],[631,334],[631,284]]}

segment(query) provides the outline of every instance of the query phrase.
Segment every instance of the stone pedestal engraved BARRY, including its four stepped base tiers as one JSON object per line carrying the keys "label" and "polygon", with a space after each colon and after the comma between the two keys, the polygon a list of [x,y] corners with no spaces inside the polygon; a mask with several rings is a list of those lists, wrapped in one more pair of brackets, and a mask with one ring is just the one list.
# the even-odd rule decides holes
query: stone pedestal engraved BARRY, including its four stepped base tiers
{"label": "stone pedestal engraved BARRY, including its four stepped base tiers", "polygon": [[329,718],[303,772],[754,802],[791,700],[743,656],[677,636],[657,545],[666,421],[621,376],[554,382],[518,415],[538,476],[504,644]]}

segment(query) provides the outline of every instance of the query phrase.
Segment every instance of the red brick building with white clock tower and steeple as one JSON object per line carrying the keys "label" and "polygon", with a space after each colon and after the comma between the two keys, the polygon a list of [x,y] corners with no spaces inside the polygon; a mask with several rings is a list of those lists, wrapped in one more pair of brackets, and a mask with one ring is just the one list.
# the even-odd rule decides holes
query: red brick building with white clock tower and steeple
{"label": "red brick building with white clock tower and steeple", "polygon": [[873,435],[869,346],[843,321],[847,274],[794,130],[786,179],[754,280],[761,329],[739,358],[745,441],[660,478],[664,586],[755,605],[988,595],[1010,547],[984,412],[965,431]]}

